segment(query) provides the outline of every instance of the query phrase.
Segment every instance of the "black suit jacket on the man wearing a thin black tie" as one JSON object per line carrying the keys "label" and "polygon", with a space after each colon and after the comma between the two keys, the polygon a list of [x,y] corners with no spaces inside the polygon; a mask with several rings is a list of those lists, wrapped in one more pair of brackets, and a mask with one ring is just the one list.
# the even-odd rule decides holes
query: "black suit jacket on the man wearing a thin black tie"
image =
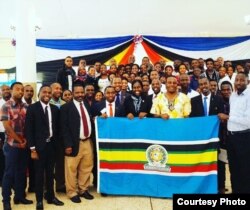
{"label": "black suit jacket on the man wearing a thin black tie", "polygon": [[[53,136],[51,137],[51,141],[55,144],[55,141],[58,139],[59,109],[53,104],[48,105],[50,106],[52,116]],[[25,136],[29,147],[36,147],[38,151],[44,149],[48,133],[46,118],[40,101],[31,104],[27,109]]]}

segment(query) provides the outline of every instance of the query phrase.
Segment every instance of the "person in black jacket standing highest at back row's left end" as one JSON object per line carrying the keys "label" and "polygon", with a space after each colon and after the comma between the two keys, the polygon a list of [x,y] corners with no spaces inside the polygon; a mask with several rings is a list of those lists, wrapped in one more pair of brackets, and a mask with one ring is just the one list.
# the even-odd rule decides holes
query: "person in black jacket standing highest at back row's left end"
{"label": "person in black jacket standing highest at back row's left end", "polygon": [[73,82],[76,77],[76,72],[72,66],[73,59],[67,56],[64,60],[63,67],[57,72],[56,81],[62,86],[63,90],[72,91]]}

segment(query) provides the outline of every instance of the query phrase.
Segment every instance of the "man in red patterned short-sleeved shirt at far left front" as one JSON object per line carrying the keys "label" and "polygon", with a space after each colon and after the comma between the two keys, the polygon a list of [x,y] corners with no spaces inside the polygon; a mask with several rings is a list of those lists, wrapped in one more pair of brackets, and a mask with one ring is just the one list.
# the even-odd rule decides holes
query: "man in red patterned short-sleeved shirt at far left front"
{"label": "man in red patterned short-sleeved shirt at far left front", "polygon": [[28,160],[27,141],[24,135],[24,123],[27,104],[22,102],[23,84],[11,85],[11,99],[1,108],[1,121],[7,134],[3,146],[5,169],[2,183],[3,209],[11,210],[11,188],[15,191],[15,204],[32,204],[25,198],[26,169]]}

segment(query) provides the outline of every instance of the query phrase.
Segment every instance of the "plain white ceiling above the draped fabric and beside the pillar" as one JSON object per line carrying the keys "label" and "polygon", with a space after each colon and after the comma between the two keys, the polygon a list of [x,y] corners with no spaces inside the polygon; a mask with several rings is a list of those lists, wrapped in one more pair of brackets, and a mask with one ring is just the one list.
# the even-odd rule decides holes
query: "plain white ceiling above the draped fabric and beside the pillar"
{"label": "plain white ceiling above the draped fabric and beside the pillar", "polygon": [[[16,1],[0,0],[0,38],[15,32]],[[27,1],[27,0],[22,0]],[[249,0],[33,0],[37,38],[249,35]]]}

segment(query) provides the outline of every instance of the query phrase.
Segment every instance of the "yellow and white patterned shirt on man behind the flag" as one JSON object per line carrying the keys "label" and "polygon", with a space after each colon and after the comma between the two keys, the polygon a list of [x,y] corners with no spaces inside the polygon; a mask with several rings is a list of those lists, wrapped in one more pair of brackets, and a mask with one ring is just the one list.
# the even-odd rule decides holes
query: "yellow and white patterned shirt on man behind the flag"
{"label": "yellow and white patterned shirt on man behind the flag", "polygon": [[190,99],[183,93],[178,93],[177,97],[170,101],[165,94],[158,95],[150,110],[151,114],[168,114],[169,118],[188,117],[191,112]]}

